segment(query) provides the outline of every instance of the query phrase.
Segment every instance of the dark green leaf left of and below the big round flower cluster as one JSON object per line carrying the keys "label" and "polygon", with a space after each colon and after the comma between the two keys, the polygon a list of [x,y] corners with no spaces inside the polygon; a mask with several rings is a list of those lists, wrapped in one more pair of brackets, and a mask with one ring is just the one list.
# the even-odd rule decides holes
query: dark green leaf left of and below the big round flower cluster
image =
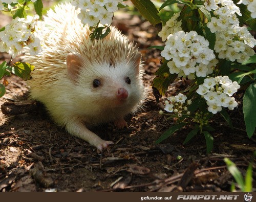
{"label": "dark green leaf left of and below the big round flower cluster", "polygon": [[165,61],[156,72],[156,75],[157,77],[154,78],[152,84],[161,95],[164,95],[169,84],[177,78],[177,74],[170,74],[167,61]]}

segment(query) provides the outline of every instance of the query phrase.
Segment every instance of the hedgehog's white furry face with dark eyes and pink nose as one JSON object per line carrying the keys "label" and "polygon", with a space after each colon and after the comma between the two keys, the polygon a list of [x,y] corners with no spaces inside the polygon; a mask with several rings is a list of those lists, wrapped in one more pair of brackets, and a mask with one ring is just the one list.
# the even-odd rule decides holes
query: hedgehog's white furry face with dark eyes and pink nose
{"label": "hedgehog's white furry face with dark eyes and pink nose", "polygon": [[76,82],[76,90],[80,93],[79,107],[86,108],[83,105],[90,105],[94,111],[118,108],[131,111],[131,108],[140,103],[144,92],[139,72],[140,58],[141,55],[138,54],[136,61],[115,64],[83,62],[79,71],[68,70],[68,75]]}

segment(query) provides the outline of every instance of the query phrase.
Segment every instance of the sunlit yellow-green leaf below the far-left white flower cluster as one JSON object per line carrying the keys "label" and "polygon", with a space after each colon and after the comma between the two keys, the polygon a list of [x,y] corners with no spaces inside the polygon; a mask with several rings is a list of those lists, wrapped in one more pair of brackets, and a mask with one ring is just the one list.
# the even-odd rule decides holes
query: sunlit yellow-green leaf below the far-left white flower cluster
{"label": "sunlit yellow-green leaf below the far-left white flower cluster", "polygon": [[16,62],[13,66],[8,67],[8,70],[11,73],[17,75],[18,77],[22,78],[23,80],[27,81],[31,79],[31,71],[33,71],[35,66],[27,63],[27,62]]}

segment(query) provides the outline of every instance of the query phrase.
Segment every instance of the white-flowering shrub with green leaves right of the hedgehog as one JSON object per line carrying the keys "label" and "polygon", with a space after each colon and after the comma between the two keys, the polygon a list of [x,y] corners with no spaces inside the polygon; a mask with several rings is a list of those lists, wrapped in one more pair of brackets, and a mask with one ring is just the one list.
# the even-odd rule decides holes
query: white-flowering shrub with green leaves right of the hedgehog
{"label": "white-flowering shrub with green leaves right of the hedgehog", "polygon": [[[174,3],[177,2],[167,0],[160,10]],[[226,109],[238,107],[233,95],[238,92],[240,85],[249,85],[243,98],[248,137],[255,130],[256,118],[252,110],[256,109],[256,103],[253,102],[256,100],[256,58],[253,50],[256,40],[248,31],[256,30],[255,19],[248,18],[248,10],[244,7],[240,10],[231,0],[179,3],[184,4],[181,12],[167,20],[159,32],[165,41],[165,46],[160,48],[164,59],[153,86],[160,95],[164,95],[168,84],[175,79],[190,79],[186,96],[192,103],[186,106],[188,114],[177,114],[177,104],[169,103],[170,100],[175,101],[174,97],[167,98],[164,110],[169,113],[169,117],[175,117],[177,123],[165,131],[157,143],[172,136],[186,124],[193,124],[194,129],[188,133],[184,144],[197,133],[202,133],[207,152],[210,152],[213,148],[210,132],[214,128],[210,127],[209,120],[221,113],[233,128]],[[247,27],[240,27],[242,23],[247,24]]]}

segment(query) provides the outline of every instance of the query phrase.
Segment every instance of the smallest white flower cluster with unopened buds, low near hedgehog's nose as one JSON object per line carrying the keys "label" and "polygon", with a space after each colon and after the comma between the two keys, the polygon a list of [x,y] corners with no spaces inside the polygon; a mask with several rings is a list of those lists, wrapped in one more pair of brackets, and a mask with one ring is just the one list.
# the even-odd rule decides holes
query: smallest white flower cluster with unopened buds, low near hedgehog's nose
{"label": "smallest white flower cluster with unopened buds, low near hedgehog's nose", "polygon": [[[177,96],[168,97],[165,101],[164,110],[170,113],[178,114],[178,117],[182,117],[182,114],[190,115],[190,111],[187,110],[186,105],[191,104],[191,100],[187,100],[187,97],[181,93]],[[186,104],[185,104],[186,102]]]}

